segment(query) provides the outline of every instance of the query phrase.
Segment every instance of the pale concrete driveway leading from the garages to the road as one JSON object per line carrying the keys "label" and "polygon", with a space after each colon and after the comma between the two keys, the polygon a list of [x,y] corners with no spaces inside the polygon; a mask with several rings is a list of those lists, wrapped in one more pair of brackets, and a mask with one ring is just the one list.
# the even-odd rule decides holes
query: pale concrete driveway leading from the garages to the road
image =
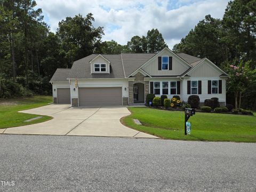
{"label": "pale concrete driveway leading from the garages to the road", "polygon": [[52,104],[20,112],[48,115],[53,119],[33,125],[2,129],[2,133],[157,138],[122,125],[119,119],[130,115],[130,111],[123,106],[72,108],[69,105]]}

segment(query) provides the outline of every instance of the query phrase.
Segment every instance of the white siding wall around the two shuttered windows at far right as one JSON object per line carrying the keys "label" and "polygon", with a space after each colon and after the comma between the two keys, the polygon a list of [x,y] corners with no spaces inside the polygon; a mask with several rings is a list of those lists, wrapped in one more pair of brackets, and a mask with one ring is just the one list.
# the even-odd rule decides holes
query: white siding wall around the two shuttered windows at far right
{"label": "white siding wall around the two shuttered windows at far right", "polygon": [[[209,80],[222,80],[222,93],[221,94],[208,94],[208,81]],[[200,102],[204,102],[205,99],[219,98],[220,102],[226,102],[226,78],[221,77],[190,77],[184,78],[182,81],[182,99],[184,102],[188,102],[188,97],[192,94],[187,94],[187,81],[202,81],[202,94],[197,94],[200,98]]]}

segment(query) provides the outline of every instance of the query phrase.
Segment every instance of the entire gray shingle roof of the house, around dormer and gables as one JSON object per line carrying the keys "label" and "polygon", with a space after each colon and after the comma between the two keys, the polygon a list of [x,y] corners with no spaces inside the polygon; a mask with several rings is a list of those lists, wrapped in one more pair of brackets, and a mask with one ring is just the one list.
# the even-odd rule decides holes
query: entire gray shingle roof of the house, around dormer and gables
{"label": "entire gray shingle roof of the house, around dormer and gables", "polygon": [[[110,74],[91,74],[90,61],[98,54],[91,54],[73,63],[71,69],[57,69],[50,82],[68,81],[67,78],[125,78],[154,57],[155,53],[101,54],[110,64]],[[195,67],[202,59],[185,53],[177,54]],[[192,68],[193,68],[192,67]],[[191,68],[190,68],[191,69]],[[188,70],[190,70],[188,69]],[[125,71],[125,74],[124,74]],[[187,72],[187,71],[186,71]],[[185,73],[186,73],[185,72]],[[183,73],[183,74],[185,74]]]}

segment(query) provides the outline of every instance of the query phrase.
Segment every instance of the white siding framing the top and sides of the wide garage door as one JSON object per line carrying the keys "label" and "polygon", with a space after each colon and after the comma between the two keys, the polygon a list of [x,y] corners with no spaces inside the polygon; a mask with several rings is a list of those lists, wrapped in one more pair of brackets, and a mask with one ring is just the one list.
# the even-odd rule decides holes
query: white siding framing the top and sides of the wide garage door
{"label": "white siding framing the top and sides of the wide garage door", "polygon": [[[78,98],[78,89],[75,89],[75,79],[71,79],[71,97]],[[77,79],[78,87],[122,87],[122,97],[129,97],[127,79]],[[126,88],[126,91],[125,91]]]}

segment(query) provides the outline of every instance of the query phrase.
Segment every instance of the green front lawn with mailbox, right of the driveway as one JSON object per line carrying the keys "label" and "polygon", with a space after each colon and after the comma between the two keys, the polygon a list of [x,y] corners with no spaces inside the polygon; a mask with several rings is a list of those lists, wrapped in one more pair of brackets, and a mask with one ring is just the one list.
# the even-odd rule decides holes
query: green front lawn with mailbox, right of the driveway
{"label": "green front lawn with mailbox, right of the driveway", "polygon": [[[189,118],[191,134],[184,135],[184,111],[129,107],[121,121],[135,130],[164,139],[256,142],[256,116],[196,113]],[[139,119],[137,125],[132,119]]]}

